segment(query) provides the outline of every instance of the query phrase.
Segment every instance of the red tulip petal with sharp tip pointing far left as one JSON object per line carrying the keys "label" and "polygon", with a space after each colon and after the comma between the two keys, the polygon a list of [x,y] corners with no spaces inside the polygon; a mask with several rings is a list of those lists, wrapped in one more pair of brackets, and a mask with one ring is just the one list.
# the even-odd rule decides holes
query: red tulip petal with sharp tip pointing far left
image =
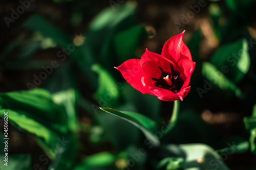
{"label": "red tulip petal with sharp tip pointing far left", "polygon": [[[139,90],[143,94],[151,93],[147,90],[146,87],[143,86],[141,82],[142,77],[146,77],[144,74],[141,66],[140,66],[140,59],[130,59],[122,63],[120,66],[115,67],[118,69],[123,78],[130,83],[135,89]],[[148,84],[148,81],[146,81]],[[151,84],[148,84],[151,85]]]}

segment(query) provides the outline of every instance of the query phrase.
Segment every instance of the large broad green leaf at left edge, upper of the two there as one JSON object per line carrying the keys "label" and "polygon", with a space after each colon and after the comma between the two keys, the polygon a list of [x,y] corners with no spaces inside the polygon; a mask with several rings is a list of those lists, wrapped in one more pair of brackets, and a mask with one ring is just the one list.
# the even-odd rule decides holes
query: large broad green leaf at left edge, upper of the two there
{"label": "large broad green leaf at left edge, upper of the two there", "polygon": [[68,132],[65,109],[53,102],[52,95],[47,90],[35,88],[1,93],[0,109],[12,110],[19,116],[33,119],[57,133]]}

